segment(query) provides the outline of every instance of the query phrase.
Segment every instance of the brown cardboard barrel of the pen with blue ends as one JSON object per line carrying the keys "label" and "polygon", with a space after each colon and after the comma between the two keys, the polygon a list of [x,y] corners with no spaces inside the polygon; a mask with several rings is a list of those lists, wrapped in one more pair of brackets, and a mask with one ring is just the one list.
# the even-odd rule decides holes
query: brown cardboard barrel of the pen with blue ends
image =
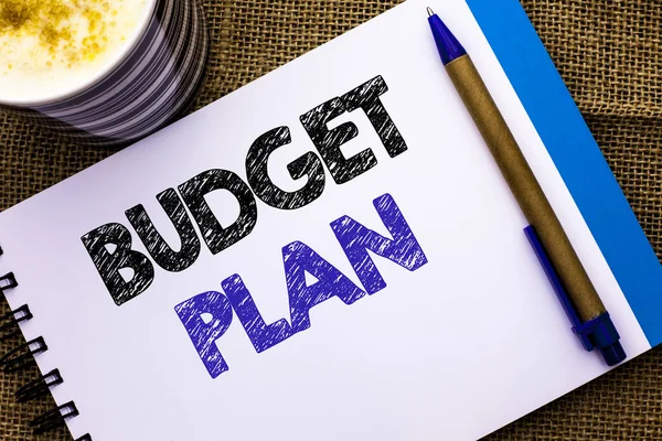
{"label": "brown cardboard barrel of the pen with blue ends", "polygon": [[526,220],[535,228],[583,321],[606,312],[581,261],[469,55],[446,65]]}

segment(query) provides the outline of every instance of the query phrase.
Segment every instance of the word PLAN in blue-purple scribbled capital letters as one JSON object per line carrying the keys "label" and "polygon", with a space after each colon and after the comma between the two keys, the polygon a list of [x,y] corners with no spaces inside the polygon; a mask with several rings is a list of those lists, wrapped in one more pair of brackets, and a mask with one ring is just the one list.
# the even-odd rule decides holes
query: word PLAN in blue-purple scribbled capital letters
{"label": "word PLAN in blue-purple scribbled capital letters", "polygon": [[[261,353],[309,329],[310,310],[330,298],[338,297],[343,303],[353,304],[366,294],[372,295],[386,288],[386,281],[369,251],[409,271],[415,271],[427,263],[420,245],[393,197],[385,194],[373,203],[393,238],[384,237],[349,216],[331,223],[331,229],[363,289],[308,245],[293,241],[282,248],[290,322],[280,319],[270,324],[265,323],[250,292],[238,275],[221,282],[223,293],[203,292],[174,308],[212,378],[218,377],[229,368],[216,347],[216,341],[232,324],[233,311],[255,351]],[[306,282],[306,272],[314,276],[318,281],[309,286]]]}

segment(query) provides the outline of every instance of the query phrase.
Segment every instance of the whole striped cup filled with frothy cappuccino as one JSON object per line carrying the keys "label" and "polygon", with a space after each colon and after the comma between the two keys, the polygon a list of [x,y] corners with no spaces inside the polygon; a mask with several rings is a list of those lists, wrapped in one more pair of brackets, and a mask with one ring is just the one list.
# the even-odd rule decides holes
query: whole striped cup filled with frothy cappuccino
{"label": "whole striped cup filled with frothy cappuccino", "polygon": [[0,0],[0,105],[122,146],[186,110],[207,52],[196,0]]}

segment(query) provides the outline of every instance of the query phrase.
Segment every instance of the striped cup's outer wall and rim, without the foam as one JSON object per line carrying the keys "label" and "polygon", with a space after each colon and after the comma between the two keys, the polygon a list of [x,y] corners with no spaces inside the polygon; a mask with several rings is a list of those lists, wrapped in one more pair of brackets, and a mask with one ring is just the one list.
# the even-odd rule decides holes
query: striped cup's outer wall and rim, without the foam
{"label": "striped cup's outer wall and rim, without the foam", "polygon": [[196,0],[148,3],[129,44],[94,77],[51,96],[0,96],[0,106],[78,143],[104,147],[126,146],[183,116],[209,57],[202,7]]}

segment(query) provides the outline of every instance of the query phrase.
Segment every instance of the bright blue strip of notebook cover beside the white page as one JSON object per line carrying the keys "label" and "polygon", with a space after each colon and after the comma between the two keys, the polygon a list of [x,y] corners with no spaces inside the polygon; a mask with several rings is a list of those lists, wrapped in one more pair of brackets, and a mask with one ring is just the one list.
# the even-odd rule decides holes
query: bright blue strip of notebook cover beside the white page
{"label": "bright blue strip of notebook cover beside the white page", "polygon": [[662,266],[519,1],[468,0],[651,346],[662,342]]}

